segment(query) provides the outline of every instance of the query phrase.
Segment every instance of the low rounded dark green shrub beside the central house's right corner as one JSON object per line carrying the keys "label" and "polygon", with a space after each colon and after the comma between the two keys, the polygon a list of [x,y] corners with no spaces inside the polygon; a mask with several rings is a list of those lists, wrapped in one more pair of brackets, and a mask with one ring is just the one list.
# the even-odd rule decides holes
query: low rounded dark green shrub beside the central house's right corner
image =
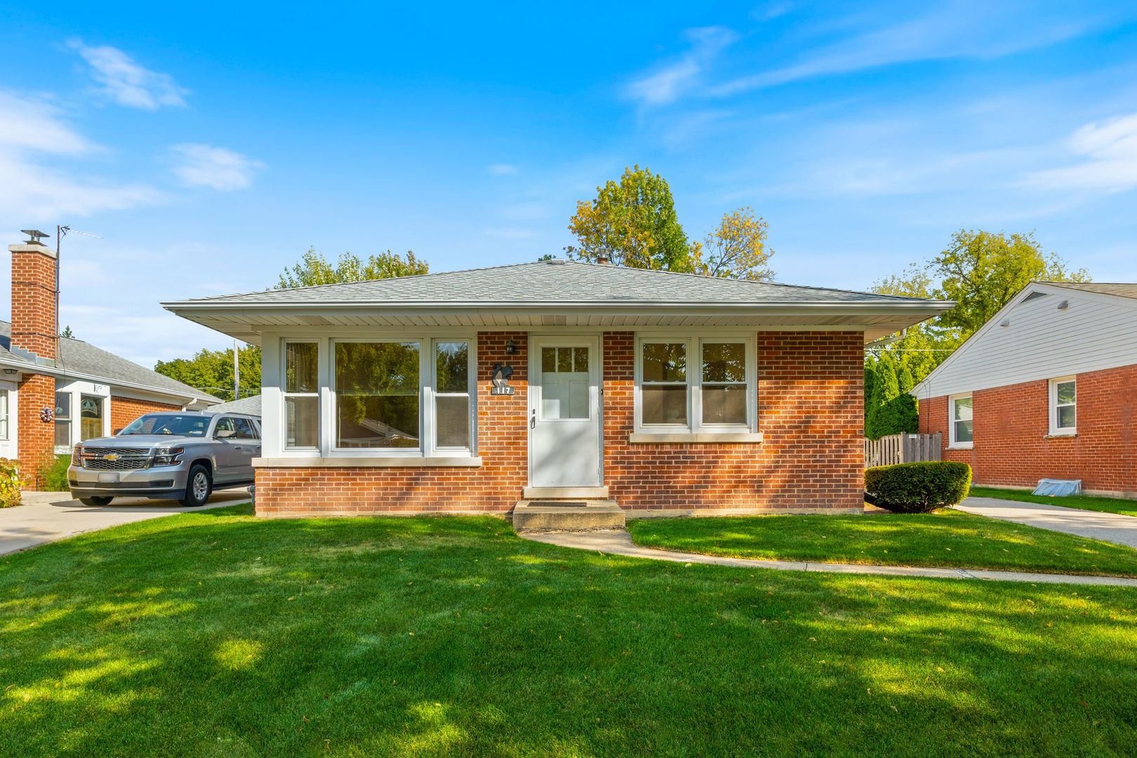
{"label": "low rounded dark green shrub beside the central house's right corner", "polygon": [[926,460],[874,466],[864,472],[864,499],[898,514],[927,514],[968,497],[971,466],[954,460]]}

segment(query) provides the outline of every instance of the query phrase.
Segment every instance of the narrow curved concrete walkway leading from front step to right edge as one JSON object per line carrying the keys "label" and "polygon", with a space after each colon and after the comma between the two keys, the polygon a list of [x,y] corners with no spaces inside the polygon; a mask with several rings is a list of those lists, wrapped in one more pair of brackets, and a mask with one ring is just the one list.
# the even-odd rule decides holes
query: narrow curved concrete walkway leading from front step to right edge
{"label": "narrow curved concrete walkway leading from front step to right edge", "polygon": [[1118,576],[1079,576],[1074,574],[1027,574],[1022,572],[991,572],[973,568],[919,568],[908,566],[868,566],[861,564],[805,564],[792,560],[761,560],[757,558],[723,558],[696,552],[675,552],[642,548],[632,542],[623,530],[607,532],[545,532],[522,533],[521,536],[534,542],[556,544],[562,548],[592,550],[613,556],[671,560],[680,564],[711,564],[714,566],[739,566],[744,568],[772,568],[783,572],[828,572],[833,574],[878,574],[883,576],[924,576],[949,580],[994,580],[1002,582],[1032,582],[1046,584],[1109,584],[1137,588],[1137,580]]}

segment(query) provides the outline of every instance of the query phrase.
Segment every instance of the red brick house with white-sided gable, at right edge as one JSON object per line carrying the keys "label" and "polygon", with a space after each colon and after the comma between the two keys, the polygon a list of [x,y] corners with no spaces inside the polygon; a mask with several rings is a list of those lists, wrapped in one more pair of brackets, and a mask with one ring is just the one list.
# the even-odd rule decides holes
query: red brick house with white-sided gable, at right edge
{"label": "red brick house with white-sided gable, at right edge", "polygon": [[976,484],[1137,497],[1137,284],[1034,282],[912,393]]}

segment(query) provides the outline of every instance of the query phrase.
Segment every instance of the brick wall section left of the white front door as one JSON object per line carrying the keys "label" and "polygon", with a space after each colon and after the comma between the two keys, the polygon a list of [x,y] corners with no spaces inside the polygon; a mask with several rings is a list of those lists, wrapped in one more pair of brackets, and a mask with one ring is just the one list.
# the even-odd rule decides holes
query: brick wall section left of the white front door
{"label": "brick wall section left of the white front door", "polygon": [[[506,340],[517,352],[506,355]],[[505,513],[529,478],[524,332],[478,335],[479,468],[258,468],[257,514]],[[513,366],[512,395],[491,395],[493,364]]]}

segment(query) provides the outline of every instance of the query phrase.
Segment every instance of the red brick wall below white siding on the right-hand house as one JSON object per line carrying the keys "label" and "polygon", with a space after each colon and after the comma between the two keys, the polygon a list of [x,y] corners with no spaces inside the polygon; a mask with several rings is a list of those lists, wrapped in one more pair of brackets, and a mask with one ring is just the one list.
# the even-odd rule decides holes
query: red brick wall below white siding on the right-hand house
{"label": "red brick wall below white siding on the right-hand house", "polygon": [[1051,438],[1045,380],[972,393],[971,450],[948,449],[947,398],[920,400],[920,431],[943,432],[944,457],[976,484],[1035,486],[1080,478],[1087,490],[1137,495],[1137,366],[1078,374],[1077,436]]}

